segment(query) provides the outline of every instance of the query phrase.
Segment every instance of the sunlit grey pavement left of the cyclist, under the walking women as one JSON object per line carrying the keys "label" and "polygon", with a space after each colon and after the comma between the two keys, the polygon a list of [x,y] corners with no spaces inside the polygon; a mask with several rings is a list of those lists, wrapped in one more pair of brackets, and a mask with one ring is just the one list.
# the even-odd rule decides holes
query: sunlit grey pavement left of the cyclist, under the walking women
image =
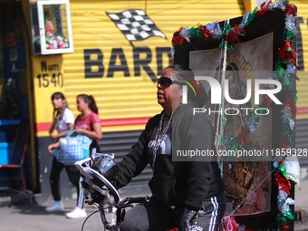
{"label": "sunlit grey pavement left of the cyclist, under the walking women", "polygon": [[[149,194],[148,186],[132,186],[119,190],[120,198],[141,197]],[[13,204],[13,205],[10,205]],[[47,213],[45,207],[53,201],[42,201],[40,195],[23,194],[0,196],[0,230],[1,231],[101,231],[104,230],[101,216],[96,206],[85,204],[88,218],[69,219],[65,213],[72,211],[76,200],[63,199],[64,212]],[[112,213],[106,214],[111,221]],[[84,223],[84,224],[83,224]],[[83,226],[83,229],[82,229]]]}

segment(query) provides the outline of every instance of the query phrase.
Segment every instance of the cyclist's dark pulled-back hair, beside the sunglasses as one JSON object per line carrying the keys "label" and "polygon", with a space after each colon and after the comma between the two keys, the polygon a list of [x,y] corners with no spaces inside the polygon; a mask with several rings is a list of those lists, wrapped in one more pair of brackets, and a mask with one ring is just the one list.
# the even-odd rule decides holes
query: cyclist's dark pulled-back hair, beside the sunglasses
{"label": "cyclist's dark pulled-back hair, beside the sunglasses", "polygon": [[188,104],[204,107],[207,101],[207,91],[201,82],[195,80],[194,72],[187,66],[179,64],[169,65],[167,68],[176,72],[178,81],[188,86]]}

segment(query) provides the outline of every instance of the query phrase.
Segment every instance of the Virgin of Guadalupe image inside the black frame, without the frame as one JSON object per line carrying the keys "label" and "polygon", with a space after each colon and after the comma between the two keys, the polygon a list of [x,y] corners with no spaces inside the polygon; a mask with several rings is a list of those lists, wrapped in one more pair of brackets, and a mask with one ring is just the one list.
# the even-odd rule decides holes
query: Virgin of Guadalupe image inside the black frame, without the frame
{"label": "Virgin of Guadalupe image inside the black frame, without the frame", "polygon": [[[194,51],[189,58],[189,66],[198,76],[205,74],[217,82],[226,79],[225,98],[227,93],[239,100],[238,104],[226,99],[212,103],[211,86],[203,82],[208,90],[205,111],[219,134],[217,148],[224,154],[221,160],[228,209],[236,216],[262,214],[271,210],[271,157],[266,152],[272,149],[273,113],[260,106],[265,103],[262,97],[255,104],[255,80],[267,79],[274,68],[273,34],[236,44],[226,52],[225,62],[224,74],[220,48]],[[248,89],[249,100],[241,103]]]}

